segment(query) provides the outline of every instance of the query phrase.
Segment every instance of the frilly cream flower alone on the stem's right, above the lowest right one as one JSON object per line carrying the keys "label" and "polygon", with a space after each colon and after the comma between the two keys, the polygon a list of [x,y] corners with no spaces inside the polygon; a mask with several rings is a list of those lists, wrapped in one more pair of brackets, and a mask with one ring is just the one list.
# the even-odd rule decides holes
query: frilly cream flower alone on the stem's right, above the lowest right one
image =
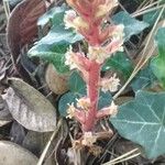
{"label": "frilly cream flower alone on the stem's right, above the lowest right one", "polygon": [[120,79],[116,77],[117,75],[114,74],[110,78],[102,78],[100,81],[101,90],[103,92],[110,90],[111,92],[114,92],[118,90],[118,86],[120,85]]}

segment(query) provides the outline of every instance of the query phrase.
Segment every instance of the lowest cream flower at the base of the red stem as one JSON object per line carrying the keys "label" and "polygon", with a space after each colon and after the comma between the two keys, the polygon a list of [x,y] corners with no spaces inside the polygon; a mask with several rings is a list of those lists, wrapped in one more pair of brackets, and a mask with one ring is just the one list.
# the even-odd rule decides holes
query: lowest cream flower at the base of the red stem
{"label": "lowest cream flower at the base of the red stem", "polygon": [[85,132],[81,144],[86,146],[92,146],[96,141],[97,136],[95,136],[92,132]]}

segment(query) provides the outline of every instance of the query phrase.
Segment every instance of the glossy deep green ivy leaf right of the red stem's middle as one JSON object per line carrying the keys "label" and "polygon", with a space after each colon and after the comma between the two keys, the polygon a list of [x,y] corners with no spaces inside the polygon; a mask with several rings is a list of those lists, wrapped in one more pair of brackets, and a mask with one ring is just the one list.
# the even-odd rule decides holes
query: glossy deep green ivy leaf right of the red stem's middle
{"label": "glossy deep green ivy leaf right of the red stem's middle", "polygon": [[128,79],[133,70],[133,64],[123,52],[118,52],[114,56],[108,58],[102,67],[103,72],[109,69],[122,73],[124,78]]}

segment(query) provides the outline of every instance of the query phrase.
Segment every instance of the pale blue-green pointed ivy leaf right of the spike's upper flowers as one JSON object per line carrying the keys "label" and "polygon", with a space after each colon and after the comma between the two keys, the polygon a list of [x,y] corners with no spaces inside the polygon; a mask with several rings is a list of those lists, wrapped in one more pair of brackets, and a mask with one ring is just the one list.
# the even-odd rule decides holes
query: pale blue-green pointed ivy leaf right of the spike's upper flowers
{"label": "pale blue-green pointed ivy leaf right of the spike's upper flowers", "polygon": [[144,29],[148,28],[148,23],[133,19],[128,12],[121,11],[113,15],[112,21],[116,24],[124,25],[124,36],[128,41],[132,35],[141,33]]}

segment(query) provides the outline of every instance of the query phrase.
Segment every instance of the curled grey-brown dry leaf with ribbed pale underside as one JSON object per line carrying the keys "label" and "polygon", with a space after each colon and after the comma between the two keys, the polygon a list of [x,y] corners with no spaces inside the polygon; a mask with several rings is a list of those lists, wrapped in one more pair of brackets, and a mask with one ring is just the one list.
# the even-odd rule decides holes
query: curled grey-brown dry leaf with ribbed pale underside
{"label": "curled grey-brown dry leaf with ribbed pale underside", "polygon": [[8,89],[3,99],[13,119],[29,130],[54,131],[56,110],[52,103],[36,89],[19,78],[11,78],[9,82],[12,88]]}

